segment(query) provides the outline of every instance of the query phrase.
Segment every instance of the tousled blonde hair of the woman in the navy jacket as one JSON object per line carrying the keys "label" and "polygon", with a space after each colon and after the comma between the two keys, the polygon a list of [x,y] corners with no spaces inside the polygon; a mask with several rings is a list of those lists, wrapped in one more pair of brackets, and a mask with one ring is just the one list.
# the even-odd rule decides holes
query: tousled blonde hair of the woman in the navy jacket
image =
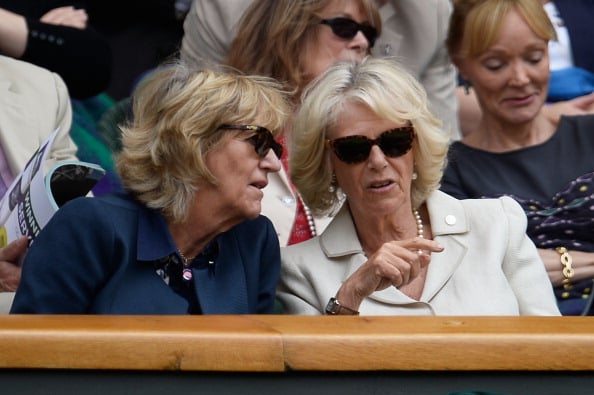
{"label": "tousled blonde hair of the woman in the navy jacket", "polygon": [[141,203],[179,222],[200,179],[217,180],[208,153],[229,133],[223,124],[253,124],[278,135],[289,113],[278,82],[231,70],[197,70],[177,62],[145,79],[134,94],[133,120],[122,126],[117,170]]}

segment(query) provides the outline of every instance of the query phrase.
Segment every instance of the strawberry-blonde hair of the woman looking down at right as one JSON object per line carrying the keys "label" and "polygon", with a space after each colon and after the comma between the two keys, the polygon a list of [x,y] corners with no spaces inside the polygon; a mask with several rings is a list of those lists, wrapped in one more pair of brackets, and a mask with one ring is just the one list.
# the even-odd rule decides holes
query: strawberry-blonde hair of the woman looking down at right
{"label": "strawberry-blonde hair of the woman looking down at right", "polygon": [[540,0],[453,0],[446,46],[456,63],[475,58],[495,43],[504,17],[516,10],[545,41],[556,39],[555,28]]}

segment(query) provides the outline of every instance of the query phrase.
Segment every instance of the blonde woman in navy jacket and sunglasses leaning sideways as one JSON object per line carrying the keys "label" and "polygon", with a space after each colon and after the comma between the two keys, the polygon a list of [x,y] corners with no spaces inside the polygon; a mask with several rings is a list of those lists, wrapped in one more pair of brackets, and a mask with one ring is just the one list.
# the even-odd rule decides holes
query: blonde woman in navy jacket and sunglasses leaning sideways
{"label": "blonde woman in navy jacket and sunglasses leaning sideways", "polygon": [[75,199],[31,245],[12,313],[255,314],[274,308],[278,237],[260,216],[280,169],[276,82],[182,64],[134,97],[126,194]]}

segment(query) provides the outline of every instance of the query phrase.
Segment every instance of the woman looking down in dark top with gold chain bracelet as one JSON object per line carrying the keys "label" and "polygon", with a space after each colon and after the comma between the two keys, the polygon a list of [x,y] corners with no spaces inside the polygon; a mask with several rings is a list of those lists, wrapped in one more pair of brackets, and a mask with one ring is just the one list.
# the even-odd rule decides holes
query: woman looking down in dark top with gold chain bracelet
{"label": "woman looking down in dark top with gold chain bracelet", "polygon": [[528,216],[561,312],[587,313],[594,277],[594,116],[543,114],[555,29],[538,0],[457,0],[447,46],[482,118],[454,142],[442,190],[508,195]]}

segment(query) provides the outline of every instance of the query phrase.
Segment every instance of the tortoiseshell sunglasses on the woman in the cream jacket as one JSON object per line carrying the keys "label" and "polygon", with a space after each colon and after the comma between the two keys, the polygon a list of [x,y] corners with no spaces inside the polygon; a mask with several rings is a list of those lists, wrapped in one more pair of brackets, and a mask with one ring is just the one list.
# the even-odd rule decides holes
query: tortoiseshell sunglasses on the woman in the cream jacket
{"label": "tortoiseshell sunglasses on the woman in the cream jacket", "polygon": [[406,154],[412,147],[415,131],[412,126],[386,130],[372,140],[365,136],[347,136],[335,140],[326,140],[326,146],[332,148],[338,159],[345,163],[361,163],[369,158],[374,145],[380,147],[384,155],[397,158]]}

